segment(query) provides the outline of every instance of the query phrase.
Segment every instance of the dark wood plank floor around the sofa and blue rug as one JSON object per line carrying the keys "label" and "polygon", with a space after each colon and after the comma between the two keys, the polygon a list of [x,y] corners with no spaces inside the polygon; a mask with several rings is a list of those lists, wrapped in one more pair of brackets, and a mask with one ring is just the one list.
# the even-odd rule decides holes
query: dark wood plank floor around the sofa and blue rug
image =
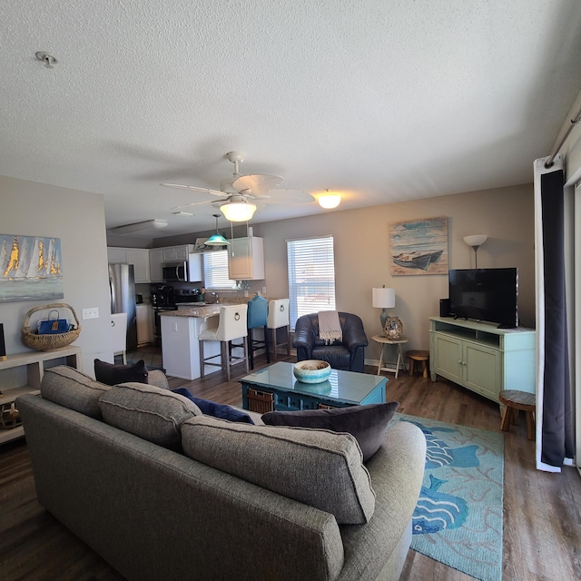
{"label": "dark wood plank floor around the sofa and blue rug", "polygon": [[[258,357],[256,369],[264,365]],[[242,369],[229,382],[213,373],[195,381],[170,378],[170,383],[204,399],[241,406],[241,375]],[[419,374],[400,373],[395,379],[389,373],[388,378],[387,399],[399,401],[401,413],[500,431],[497,404],[468,389]],[[410,550],[400,581],[471,578]],[[0,579],[122,579],[39,506],[24,438],[0,446]],[[503,581],[553,579],[581,579],[581,478],[575,468],[561,474],[537,471],[535,444],[527,440],[522,419],[505,435]]]}

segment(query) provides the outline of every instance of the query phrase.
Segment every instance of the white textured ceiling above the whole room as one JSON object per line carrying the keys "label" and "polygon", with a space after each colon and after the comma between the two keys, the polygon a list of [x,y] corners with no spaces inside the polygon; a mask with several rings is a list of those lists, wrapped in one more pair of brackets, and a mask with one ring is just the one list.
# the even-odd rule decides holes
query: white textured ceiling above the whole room
{"label": "white textured ceiling above the whole room", "polygon": [[[581,91],[576,0],[0,0],[0,174],[103,193],[113,227],[212,229],[241,173],[340,209],[532,181]],[[47,69],[35,59],[58,59]],[[252,222],[324,212],[269,204]],[[222,218],[222,223],[225,220]]]}

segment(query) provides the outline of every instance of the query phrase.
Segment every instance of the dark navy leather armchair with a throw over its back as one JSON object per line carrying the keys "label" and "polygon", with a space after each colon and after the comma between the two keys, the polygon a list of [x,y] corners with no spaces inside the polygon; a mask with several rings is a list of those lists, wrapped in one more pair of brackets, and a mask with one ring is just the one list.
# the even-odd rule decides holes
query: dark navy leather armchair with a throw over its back
{"label": "dark navy leather armchair with a throw over its back", "polygon": [[319,359],[327,361],[333,369],[363,371],[365,348],[369,345],[363,322],[349,312],[339,313],[342,341],[330,345],[319,337],[319,316],[315,313],[303,315],[297,320],[292,346],[297,349],[297,360]]}

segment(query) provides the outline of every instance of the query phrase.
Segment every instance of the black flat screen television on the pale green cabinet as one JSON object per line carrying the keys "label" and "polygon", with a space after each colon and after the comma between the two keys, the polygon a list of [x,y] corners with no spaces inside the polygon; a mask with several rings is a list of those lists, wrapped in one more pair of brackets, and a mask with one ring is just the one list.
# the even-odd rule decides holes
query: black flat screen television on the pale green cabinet
{"label": "black flat screen television on the pale green cabinet", "polygon": [[463,269],[448,271],[450,314],[455,319],[518,326],[518,270]]}

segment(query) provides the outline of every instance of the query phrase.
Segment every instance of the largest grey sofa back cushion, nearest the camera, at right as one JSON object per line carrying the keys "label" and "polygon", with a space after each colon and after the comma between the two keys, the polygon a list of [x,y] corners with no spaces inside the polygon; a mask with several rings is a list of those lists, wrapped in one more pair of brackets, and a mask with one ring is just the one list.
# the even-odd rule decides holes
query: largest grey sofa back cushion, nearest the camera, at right
{"label": "largest grey sofa back cushion, nearest the camera, at right", "polygon": [[324,510],[340,524],[365,523],[373,514],[369,472],[350,434],[196,416],[182,424],[182,446],[192,459]]}

